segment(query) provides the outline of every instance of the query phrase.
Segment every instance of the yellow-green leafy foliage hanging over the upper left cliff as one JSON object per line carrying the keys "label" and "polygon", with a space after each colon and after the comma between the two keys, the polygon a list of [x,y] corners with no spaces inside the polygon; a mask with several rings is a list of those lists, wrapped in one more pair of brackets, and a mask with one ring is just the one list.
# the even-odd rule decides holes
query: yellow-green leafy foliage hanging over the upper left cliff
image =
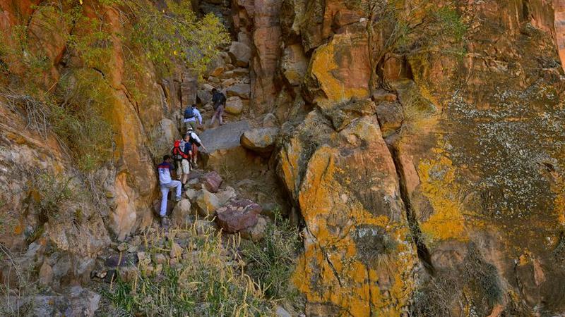
{"label": "yellow-green leafy foliage hanging over the upper left cliff", "polygon": [[[112,157],[108,113],[115,97],[107,74],[114,71],[109,61],[116,60],[118,43],[127,66],[124,85],[138,101],[143,93],[136,81],[143,76],[132,73],[145,73],[153,62],[163,75],[182,64],[198,74],[229,39],[215,15],[199,20],[190,1],[99,0],[86,8],[82,1],[61,0],[32,8],[46,32],[61,37],[63,60],[70,67],[56,82],[48,82],[54,61],[31,41],[28,21],[20,21],[0,38],[0,71],[14,72],[1,97],[28,119],[28,128],[45,137],[54,131],[87,172]],[[112,26],[114,13],[121,27]]]}

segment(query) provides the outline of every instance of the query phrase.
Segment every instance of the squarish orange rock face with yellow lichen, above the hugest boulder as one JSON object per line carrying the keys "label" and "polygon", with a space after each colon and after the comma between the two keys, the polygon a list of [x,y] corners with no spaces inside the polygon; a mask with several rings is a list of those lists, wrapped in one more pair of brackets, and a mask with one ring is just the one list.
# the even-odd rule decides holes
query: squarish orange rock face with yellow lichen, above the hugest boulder
{"label": "squarish orange rock face with yellow lichen, above the hugest boulder", "polygon": [[[340,50],[340,46],[346,46],[347,50]],[[348,55],[347,58],[340,58],[340,54]],[[312,57],[311,74],[316,77],[330,101],[369,96],[365,67],[369,62],[367,54],[367,42],[355,42],[351,35],[334,35],[331,42],[316,49]],[[341,62],[338,64],[337,60]],[[352,71],[357,73],[351,75]]]}

